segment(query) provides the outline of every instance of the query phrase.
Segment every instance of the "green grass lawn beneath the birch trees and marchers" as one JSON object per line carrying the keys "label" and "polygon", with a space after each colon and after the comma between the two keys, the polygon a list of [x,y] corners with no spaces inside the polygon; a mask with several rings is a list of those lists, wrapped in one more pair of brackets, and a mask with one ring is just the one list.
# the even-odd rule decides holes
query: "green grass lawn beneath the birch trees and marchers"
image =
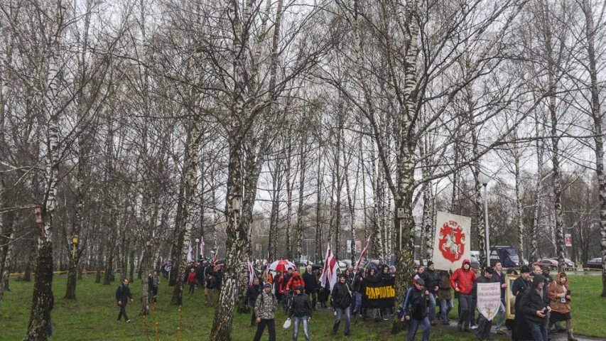
{"label": "green grass lawn beneath the birch trees and marchers", "polygon": [[[570,276],[571,289],[574,290],[573,324],[575,332],[582,335],[606,337],[606,299],[599,298],[599,276]],[[65,294],[65,281],[63,277],[55,277],[53,291],[55,293],[55,309],[53,310],[53,340],[147,340],[146,326],[139,312],[138,299],[140,297],[141,281],[131,283],[135,301],[127,306],[127,313],[132,322],[130,324],[117,323],[118,308],[114,300],[114,292],[118,286],[103,286],[94,283],[94,278],[78,281],[77,301],[61,299]],[[176,340],[179,324],[178,307],[169,305],[172,287],[161,283],[156,306],[156,320],[161,340]],[[0,340],[22,340],[26,333],[33,282],[18,282],[11,280],[11,291],[6,293],[0,306]],[[216,298],[215,298],[216,299]],[[202,290],[193,295],[185,295],[183,305],[183,329],[180,340],[207,340],[210,335],[212,319],[215,310],[204,305]],[[456,308],[450,313],[450,319],[456,318]],[[153,331],[153,317],[147,318],[151,340],[156,340]],[[276,313],[276,339],[291,340],[292,327],[288,330],[281,328],[286,317]],[[402,340],[404,335],[392,336],[389,334],[391,323],[372,321],[362,322],[359,318],[352,318],[352,337],[343,337],[345,323],[342,322],[339,337],[330,336],[334,316],[330,313],[316,312],[310,322],[310,332],[313,340]],[[249,327],[250,315],[235,315],[233,340],[252,340],[256,328]],[[299,340],[305,340],[302,335]],[[267,332],[262,340],[267,340]],[[475,340],[471,334],[462,334],[432,328],[432,340]],[[421,340],[421,330],[417,334]]]}

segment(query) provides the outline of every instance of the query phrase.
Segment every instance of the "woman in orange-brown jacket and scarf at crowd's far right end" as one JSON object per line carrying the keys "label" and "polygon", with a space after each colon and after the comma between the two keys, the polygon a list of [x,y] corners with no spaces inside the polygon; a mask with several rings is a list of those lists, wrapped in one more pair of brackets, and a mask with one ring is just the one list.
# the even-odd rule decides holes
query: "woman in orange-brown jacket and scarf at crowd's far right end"
{"label": "woman in orange-brown jacket and scarf at crowd's far right end", "polygon": [[556,276],[547,288],[549,296],[549,306],[551,315],[547,330],[558,322],[566,322],[566,332],[568,332],[568,341],[577,341],[573,335],[573,325],[570,318],[570,290],[568,289],[568,277],[566,272],[562,271]]}

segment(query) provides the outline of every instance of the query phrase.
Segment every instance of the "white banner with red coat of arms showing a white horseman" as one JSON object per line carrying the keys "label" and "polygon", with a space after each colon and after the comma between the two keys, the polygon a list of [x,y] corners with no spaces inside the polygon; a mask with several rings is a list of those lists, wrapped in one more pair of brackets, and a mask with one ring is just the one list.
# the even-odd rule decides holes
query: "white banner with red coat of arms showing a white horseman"
{"label": "white banner with red coat of arms showing a white horseman", "polygon": [[438,212],[435,221],[433,264],[438,270],[453,270],[471,258],[471,218]]}

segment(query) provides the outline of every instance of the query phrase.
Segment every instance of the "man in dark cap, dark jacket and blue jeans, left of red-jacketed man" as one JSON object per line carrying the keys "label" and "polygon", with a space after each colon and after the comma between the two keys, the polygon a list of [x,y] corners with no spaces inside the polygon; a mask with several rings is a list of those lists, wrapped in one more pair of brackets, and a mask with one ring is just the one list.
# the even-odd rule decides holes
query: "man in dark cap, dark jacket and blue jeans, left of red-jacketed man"
{"label": "man in dark cap, dark jacket and blue jeans, left of red-jacketed man", "polygon": [[408,341],[414,341],[416,331],[419,327],[423,330],[423,341],[429,341],[429,334],[431,332],[431,324],[429,323],[427,313],[427,296],[424,288],[425,281],[423,278],[417,278],[414,281],[413,287],[409,288],[406,292],[406,299],[404,299],[404,318],[410,325],[408,325]]}

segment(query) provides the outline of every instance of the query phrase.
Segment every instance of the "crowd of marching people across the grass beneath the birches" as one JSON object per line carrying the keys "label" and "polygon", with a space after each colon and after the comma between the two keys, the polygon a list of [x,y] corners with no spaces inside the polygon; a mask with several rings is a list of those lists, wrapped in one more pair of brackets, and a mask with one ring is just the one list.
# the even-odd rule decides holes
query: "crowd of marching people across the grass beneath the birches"
{"label": "crowd of marching people across the grass beneath the birches", "polygon": [[[167,266],[170,271],[170,264],[161,266],[165,278],[168,278],[165,273]],[[362,283],[377,283],[393,278],[396,271],[394,266],[369,264],[367,269],[360,268],[357,271],[354,271],[353,266],[342,272],[337,270],[338,281],[332,286],[332,290],[328,281],[325,285],[322,284],[322,269],[313,271],[312,266],[307,266],[303,274],[293,268],[284,272],[276,271],[273,275],[265,270],[265,266],[261,269],[254,266],[254,280],[245,298],[252,308],[251,326],[257,328],[254,340],[260,340],[266,328],[269,330],[269,340],[276,340],[274,313],[280,306],[288,316],[287,323],[290,324],[293,319],[293,340],[297,340],[299,330],[303,326],[305,341],[310,340],[308,321],[318,305],[319,308],[328,308],[330,305],[333,310],[335,322],[332,335],[337,334],[342,320],[345,322],[345,335],[352,335],[352,316],[379,321],[389,320],[390,316],[394,315],[396,307],[362,308]],[[521,266],[519,272],[519,278],[510,288],[515,297],[512,309],[515,313],[514,320],[506,318],[506,274],[517,274],[517,271],[509,269],[505,272],[502,264],[497,263],[494,268],[483,269],[478,276],[469,260],[463,261],[461,268],[454,272],[436,270],[431,261],[427,266],[418,266],[411,288],[406,292],[406,299],[398,305],[397,318],[408,325],[408,340],[414,340],[418,328],[421,328],[422,340],[426,341],[429,340],[432,326],[438,322],[450,325],[448,315],[454,308],[454,300],[458,299],[458,330],[475,332],[477,340],[492,340],[492,320],[476,311],[477,283],[500,283],[501,303],[497,314],[497,334],[506,334],[504,327],[507,327],[512,330],[512,340],[548,341],[551,332],[568,332],[568,340],[575,341],[566,273],[557,274],[553,280],[548,267],[541,269],[534,266],[531,271],[528,266]],[[155,300],[160,278],[156,271],[148,276],[150,298]],[[194,293],[198,287],[204,287],[205,304],[212,305],[212,293],[220,290],[221,278],[222,265],[212,264],[210,261],[200,264],[191,262],[185,269],[183,282],[189,284],[190,293]],[[120,307],[118,320],[124,315],[126,322],[129,322],[124,310],[129,298],[132,296],[128,281],[125,281],[116,292]],[[563,328],[561,323],[565,323],[566,328]],[[556,330],[552,330],[554,326]]]}

